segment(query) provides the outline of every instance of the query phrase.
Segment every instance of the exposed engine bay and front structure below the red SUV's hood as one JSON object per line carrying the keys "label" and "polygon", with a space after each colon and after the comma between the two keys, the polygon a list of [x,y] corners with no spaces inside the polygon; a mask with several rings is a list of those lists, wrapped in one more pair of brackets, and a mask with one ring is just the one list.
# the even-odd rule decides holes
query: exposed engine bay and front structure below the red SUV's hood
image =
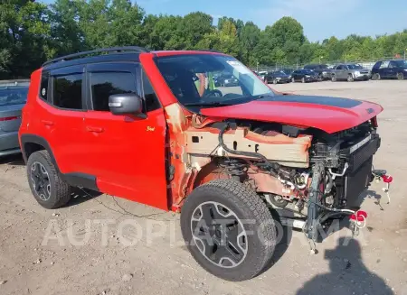
{"label": "exposed engine bay and front structure below the red SUV's hood", "polygon": [[357,211],[358,197],[374,179],[373,155],[380,146],[375,117],[335,134],[305,126],[193,119],[194,128],[185,131],[184,161],[197,171],[211,167],[195,181],[241,181],[281,217],[304,220],[313,240],[327,219]]}

